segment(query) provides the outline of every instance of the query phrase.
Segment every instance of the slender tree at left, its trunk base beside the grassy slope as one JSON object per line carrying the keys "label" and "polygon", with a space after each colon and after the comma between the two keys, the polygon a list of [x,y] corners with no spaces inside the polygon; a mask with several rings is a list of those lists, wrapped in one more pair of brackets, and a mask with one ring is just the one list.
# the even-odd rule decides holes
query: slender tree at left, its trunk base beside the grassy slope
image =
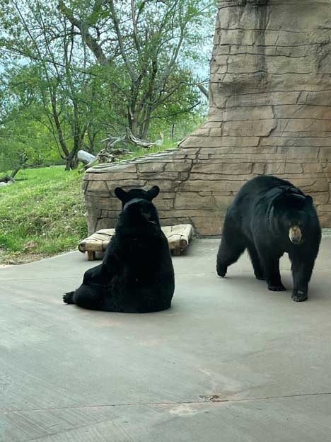
{"label": "slender tree at left, its trunk base beside the grassy slope", "polygon": [[25,5],[12,1],[7,8],[7,30],[21,38],[7,40],[6,44],[17,53],[23,47],[25,57],[32,61],[26,69],[20,67],[16,78],[23,77],[24,90],[33,91],[66,169],[73,169],[76,152],[91,123],[86,106],[90,76],[71,69],[79,48],[76,50],[67,21],[54,17],[52,11],[52,5],[40,1],[27,1]]}

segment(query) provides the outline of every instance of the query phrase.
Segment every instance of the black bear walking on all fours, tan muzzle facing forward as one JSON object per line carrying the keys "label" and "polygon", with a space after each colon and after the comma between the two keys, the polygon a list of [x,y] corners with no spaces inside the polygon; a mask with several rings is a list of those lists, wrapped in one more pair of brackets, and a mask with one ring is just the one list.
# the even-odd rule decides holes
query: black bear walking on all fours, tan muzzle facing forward
{"label": "black bear walking on all fours, tan muzzle facing forward", "polygon": [[217,273],[248,249],[257,279],[269,290],[286,290],[279,259],[287,252],[292,263],[292,299],[306,301],[308,283],[320,246],[321,229],[313,199],[275,176],[258,176],[240,188],[228,208],[217,254]]}

